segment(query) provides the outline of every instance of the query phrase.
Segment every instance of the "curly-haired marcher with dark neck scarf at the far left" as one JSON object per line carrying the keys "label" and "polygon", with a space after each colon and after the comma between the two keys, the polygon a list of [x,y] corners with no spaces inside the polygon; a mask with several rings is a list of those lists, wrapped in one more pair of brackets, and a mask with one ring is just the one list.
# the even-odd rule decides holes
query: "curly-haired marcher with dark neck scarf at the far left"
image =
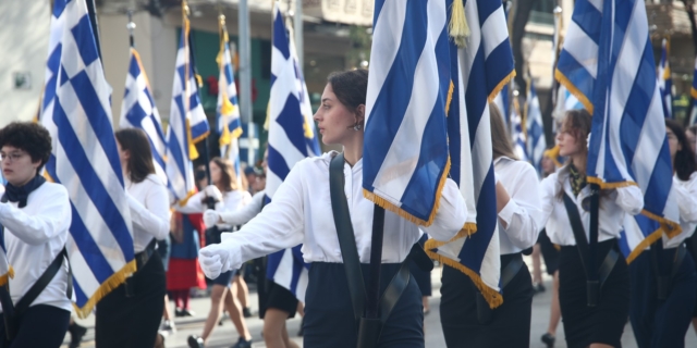
{"label": "curly-haired marcher with dark neck scarf at the far left", "polygon": [[2,314],[14,312],[5,316],[10,334],[0,324],[0,347],[57,348],[68,332],[72,284],[64,247],[71,204],[63,186],[39,175],[50,154],[51,137],[42,126],[14,122],[0,129],[0,165],[8,182],[0,228],[15,271],[9,289],[0,288]]}

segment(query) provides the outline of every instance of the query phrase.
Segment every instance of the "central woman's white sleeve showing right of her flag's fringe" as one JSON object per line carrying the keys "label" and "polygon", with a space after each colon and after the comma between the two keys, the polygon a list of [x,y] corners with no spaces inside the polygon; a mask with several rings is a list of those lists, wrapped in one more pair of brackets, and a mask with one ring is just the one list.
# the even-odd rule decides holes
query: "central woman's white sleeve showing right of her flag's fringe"
{"label": "central woman's white sleeve showing right of her flag's fringe", "polygon": [[440,196],[440,206],[433,223],[424,228],[424,232],[436,240],[448,241],[460,232],[467,221],[467,206],[460,192],[457,184],[451,178],[445,179]]}

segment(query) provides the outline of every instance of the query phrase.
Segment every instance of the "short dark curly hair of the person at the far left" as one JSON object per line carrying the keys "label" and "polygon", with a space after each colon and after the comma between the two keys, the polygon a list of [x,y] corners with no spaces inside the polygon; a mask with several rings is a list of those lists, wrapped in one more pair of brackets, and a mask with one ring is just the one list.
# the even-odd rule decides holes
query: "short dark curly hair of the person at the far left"
{"label": "short dark curly hair of the person at the far left", "polygon": [[33,163],[41,162],[38,174],[51,156],[51,135],[38,123],[12,122],[0,129],[0,148],[4,146],[26,151]]}

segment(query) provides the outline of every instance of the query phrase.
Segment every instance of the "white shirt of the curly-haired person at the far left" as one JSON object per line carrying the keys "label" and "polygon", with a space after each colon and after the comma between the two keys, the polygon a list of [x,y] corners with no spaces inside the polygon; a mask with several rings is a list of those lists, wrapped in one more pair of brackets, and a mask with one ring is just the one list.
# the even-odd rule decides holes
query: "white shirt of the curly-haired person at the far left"
{"label": "white shirt of the curly-haired person at the far left", "polygon": [[[56,257],[63,250],[71,224],[71,206],[65,187],[44,183],[29,194],[26,207],[16,202],[0,203],[0,224],[4,226],[8,262],[14,269],[10,278],[10,295],[16,303],[38,281]],[[68,262],[32,302],[70,311],[66,295]]]}

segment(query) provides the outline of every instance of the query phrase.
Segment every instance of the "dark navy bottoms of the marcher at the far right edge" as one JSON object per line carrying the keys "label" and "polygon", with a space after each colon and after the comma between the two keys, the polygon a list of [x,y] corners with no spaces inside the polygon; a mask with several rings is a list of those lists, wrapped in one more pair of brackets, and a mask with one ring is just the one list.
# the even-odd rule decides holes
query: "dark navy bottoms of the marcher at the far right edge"
{"label": "dark navy bottoms of the marcher at the far right edge", "polygon": [[[658,241],[660,243],[660,240]],[[660,251],[659,263],[671,264],[675,249]],[[663,274],[670,274],[670,268]],[[646,250],[629,264],[632,307],[629,321],[639,348],[685,347],[693,308],[697,297],[697,274],[689,253],[685,254],[673,277],[665,300],[658,299],[658,285],[651,264],[651,251]]]}

